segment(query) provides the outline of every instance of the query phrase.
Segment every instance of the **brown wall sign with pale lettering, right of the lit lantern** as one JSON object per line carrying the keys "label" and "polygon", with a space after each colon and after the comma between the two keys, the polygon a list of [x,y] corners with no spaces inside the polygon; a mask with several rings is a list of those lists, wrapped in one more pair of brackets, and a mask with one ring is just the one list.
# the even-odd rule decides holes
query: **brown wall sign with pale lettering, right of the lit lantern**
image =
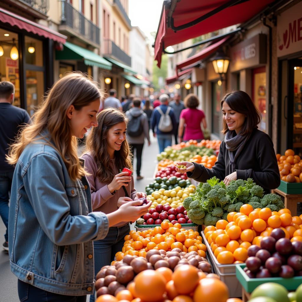
{"label": "brown wall sign with pale lettering, right of the lit lantern", "polygon": [[259,34],[243,40],[230,50],[230,71],[266,64],[266,35]]}

